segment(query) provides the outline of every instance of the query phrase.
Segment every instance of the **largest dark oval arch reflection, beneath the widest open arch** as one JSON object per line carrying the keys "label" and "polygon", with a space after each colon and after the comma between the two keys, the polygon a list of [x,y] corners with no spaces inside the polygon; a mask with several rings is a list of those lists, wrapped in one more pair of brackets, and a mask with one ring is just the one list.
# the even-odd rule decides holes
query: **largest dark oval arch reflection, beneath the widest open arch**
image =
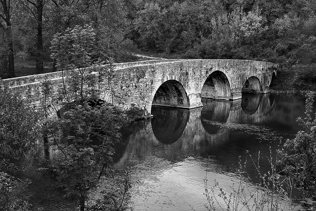
{"label": "largest dark oval arch reflection, beneath the widest open arch", "polygon": [[151,114],[154,115],[151,128],[156,139],[163,144],[172,144],[182,136],[190,110],[153,106]]}

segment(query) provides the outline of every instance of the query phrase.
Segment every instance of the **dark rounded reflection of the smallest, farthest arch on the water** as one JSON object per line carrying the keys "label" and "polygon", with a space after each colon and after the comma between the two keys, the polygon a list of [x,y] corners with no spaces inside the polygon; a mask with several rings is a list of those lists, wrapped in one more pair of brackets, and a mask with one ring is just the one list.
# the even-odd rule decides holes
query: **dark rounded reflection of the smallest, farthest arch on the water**
{"label": "dark rounded reflection of the smallest, farthest arch on the water", "polygon": [[243,93],[241,96],[241,109],[247,115],[256,113],[262,101],[262,95]]}

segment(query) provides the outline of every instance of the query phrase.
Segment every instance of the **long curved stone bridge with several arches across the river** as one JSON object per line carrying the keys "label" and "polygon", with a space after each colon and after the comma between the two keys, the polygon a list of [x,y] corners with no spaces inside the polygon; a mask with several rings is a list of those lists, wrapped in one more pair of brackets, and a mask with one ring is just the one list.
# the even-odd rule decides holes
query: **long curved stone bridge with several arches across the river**
{"label": "long curved stone bridge with several arches across the river", "polygon": [[[202,97],[235,100],[242,92],[267,93],[276,64],[252,60],[193,59],[151,60],[113,65],[111,80],[102,81],[100,99],[127,109],[132,103],[151,113],[152,105],[193,109],[202,107]],[[102,68],[109,69],[109,65]],[[67,71],[63,72],[67,76]],[[98,74],[98,73],[94,73]],[[43,104],[43,81],[51,83],[46,98],[50,116],[56,114],[63,87],[62,72],[5,79],[20,90],[35,109]]]}

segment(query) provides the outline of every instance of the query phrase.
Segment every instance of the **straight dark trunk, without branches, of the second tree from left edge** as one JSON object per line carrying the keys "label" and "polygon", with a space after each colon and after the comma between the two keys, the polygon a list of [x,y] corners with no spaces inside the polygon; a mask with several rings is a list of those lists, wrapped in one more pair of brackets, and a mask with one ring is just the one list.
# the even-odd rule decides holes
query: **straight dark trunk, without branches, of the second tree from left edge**
{"label": "straight dark trunk, without branches, of the second tree from left edge", "polygon": [[37,10],[37,49],[35,58],[35,69],[37,74],[44,72],[44,62],[43,62],[43,0],[37,0],[36,10]]}

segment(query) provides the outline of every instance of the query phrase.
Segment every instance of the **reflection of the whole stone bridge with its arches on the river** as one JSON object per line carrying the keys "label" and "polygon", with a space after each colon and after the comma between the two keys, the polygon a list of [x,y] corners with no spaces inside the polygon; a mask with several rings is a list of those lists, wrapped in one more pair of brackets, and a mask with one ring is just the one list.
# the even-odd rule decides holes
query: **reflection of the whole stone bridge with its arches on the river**
{"label": "reflection of the whole stone bridge with its arches on the river", "polygon": [[[243,106],[249,99],[254,104]],[[203,99],[203,103],[203,110],[164,108],[161,111],[153,107],[154,117],[148,124],[134,124],[125,153],[148,154],[152,153],[150,148],[160,147],[155,153],[164,153],[171,160],[185,154],[202,155],[226,144],[229,133],[221,127],[223,124],[264,121],[275,105],[270,95],[243,95],[241,100],[220,102]]]}

